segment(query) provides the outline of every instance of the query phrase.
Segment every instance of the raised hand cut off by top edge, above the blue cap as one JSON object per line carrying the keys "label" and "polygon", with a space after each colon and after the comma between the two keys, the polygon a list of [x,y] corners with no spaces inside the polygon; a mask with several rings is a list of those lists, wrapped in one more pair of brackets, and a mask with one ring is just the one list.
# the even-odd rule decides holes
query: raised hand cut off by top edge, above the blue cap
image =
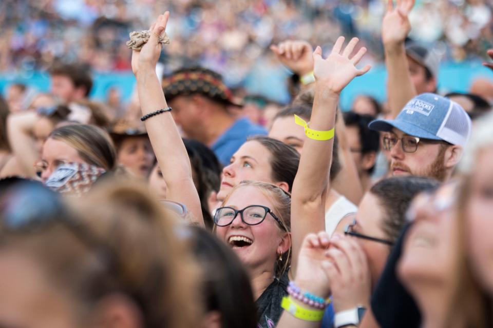
{"label": "raised hand cut off by top edge, above the blue cap", "polygon": [[415,0],[397,0],[394,8],[393,0],[388,0],[387,12],[382,22],[382,42],[385,46],[403,43],[409,31],[409,13],[414,6]]}

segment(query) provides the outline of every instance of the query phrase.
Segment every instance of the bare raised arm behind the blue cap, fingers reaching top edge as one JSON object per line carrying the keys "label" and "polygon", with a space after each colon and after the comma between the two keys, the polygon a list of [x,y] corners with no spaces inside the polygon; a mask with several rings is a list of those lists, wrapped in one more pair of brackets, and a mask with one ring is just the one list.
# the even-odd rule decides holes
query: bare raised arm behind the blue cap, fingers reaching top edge
{"label": "bare raised arm behind the blue cap, fingers reaching top edge", "polygon": [[392,118],[395,118],[407,102],[416,96],[404,46],[404,41],[411,30],[408,15],[415,0],[397,0],[395,8],[392,1],[388,0],[387,12],[382,23],[382,42],[388,73],[389,108]]}

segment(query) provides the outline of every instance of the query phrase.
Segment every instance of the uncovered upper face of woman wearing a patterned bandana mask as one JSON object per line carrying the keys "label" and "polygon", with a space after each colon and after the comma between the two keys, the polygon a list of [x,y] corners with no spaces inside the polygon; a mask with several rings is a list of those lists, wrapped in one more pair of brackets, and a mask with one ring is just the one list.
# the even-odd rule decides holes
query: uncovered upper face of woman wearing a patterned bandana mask
{"label": "uncovered upper face of woman wearing a patterned bandana mask", "polygon": [[70,147],[66,142],[48,138],[43,145],[43,152],[41,154],[42,171],[41,179],[43,183],[48,180],[51,173],[58,166],[64,163],[86,163],[85,160],[79,155],[79,152]]}

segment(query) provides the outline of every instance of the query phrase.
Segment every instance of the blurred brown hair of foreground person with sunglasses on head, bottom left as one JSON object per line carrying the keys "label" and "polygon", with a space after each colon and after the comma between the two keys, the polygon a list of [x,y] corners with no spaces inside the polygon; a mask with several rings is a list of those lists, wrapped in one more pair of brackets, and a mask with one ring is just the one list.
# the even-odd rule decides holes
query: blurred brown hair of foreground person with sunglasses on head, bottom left
{"label": "blurred brown hair of foreground person with sunglasses on head, bottom left", "polygon": [[136,305],[144,327],[196,326],[197,270],[175,235],[176,216],[135,182],[111,181],[71,200],[43,229],[6,233],[0,247],[34,259],[74,300],[82,323],[117,294]]}

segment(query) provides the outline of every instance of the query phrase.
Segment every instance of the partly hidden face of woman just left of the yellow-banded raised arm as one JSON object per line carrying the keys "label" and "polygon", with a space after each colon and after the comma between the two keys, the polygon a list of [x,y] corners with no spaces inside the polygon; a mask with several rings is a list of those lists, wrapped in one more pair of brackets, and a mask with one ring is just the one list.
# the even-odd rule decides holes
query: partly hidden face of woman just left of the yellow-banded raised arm
{"label": "partly hidden face of woman just left of the yellow-banded raised arm", "polygon": [[269,131],[269,137],[292,146],[300,154],[307,138],[305,130],[299,125],[296,125],[292,116],[276,118]]}

